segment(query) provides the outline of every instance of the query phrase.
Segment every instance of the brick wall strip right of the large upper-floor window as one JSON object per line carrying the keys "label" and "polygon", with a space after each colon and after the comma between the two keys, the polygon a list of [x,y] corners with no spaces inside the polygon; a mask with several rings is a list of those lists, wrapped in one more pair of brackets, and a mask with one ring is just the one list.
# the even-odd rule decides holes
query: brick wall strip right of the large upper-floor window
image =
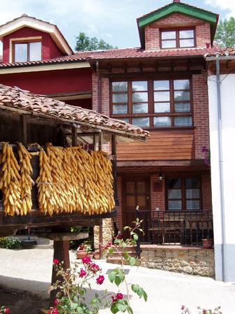
{"label": "brick wall strip right of the large upper-floor window", "polygon": [[195,124],[195,158],[202,159],[202,147],[209,148],[209,100],[206,73],[192,76],[193,114]]}

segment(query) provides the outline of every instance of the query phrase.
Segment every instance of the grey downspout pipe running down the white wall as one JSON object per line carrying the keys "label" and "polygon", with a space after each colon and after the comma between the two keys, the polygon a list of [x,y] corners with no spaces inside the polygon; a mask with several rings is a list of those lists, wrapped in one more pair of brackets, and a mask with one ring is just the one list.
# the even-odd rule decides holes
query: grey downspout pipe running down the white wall
{"label": "grey downspout pipe running down the white wall", "polygon": [[224,199],[224,179],[223,179],[223,156],[222,156],[222,116],[221,116],[221,89],[220,89],[220,59],[215,59],[216,85],[217,85],[217,108],[218,108],[218,153],[219,153],[219,171],[220,171],[220,226],[221,226],[221,266],[222,281],[226,280],[226,235],[225,235],[225,199]]}

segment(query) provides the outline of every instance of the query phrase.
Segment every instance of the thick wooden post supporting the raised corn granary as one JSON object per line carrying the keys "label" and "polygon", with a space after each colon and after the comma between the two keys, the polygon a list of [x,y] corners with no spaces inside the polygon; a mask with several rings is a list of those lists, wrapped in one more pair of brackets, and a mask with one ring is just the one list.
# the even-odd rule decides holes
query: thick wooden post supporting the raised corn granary
{"label": "thick wooden post supporting the raised corn granary", "polygon": [[[59,262],[63,261],[63,268],[68,269],[70,267],[69,260],[69,241],[54,241],[54,259],[59,259]],[[56,277],[56,271],[52,269],[52,285],[58,280]],[[50,306],[54,306],[54,299],[56,299],[56,290],[52,290],[50,293]]]}

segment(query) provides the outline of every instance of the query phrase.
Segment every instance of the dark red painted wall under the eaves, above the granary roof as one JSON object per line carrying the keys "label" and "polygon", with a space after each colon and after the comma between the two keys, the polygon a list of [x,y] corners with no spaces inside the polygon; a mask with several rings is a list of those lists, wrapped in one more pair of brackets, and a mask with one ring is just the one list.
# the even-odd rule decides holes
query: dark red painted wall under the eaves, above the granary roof
{"label": "dark red painted wall under the eaves, above the granary roof", "polygon": [[0,83],[36,94],[91,90],[91,68],[0,75]]}

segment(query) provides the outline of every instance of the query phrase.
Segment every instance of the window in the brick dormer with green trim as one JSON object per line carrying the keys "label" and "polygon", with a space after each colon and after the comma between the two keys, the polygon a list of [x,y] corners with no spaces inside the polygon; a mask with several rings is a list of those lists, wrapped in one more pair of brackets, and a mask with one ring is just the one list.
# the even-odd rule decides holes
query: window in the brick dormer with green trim
{"label": "window in the brick dormer with green trim", "polygon": [[195,47],[195,29],[161,31],[162,49]]}

